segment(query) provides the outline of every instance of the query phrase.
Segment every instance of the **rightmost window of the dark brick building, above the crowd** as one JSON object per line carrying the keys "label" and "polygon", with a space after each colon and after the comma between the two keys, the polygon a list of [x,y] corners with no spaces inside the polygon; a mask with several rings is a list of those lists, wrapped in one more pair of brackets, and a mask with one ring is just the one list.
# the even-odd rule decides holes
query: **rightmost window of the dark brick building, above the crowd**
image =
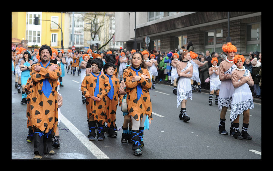
{"label": "rightmost window of the dark brick building, above the crowd", "polygon": [[261,51],[261,23],[252,23],[247,25],[247,45],[246,52]]}

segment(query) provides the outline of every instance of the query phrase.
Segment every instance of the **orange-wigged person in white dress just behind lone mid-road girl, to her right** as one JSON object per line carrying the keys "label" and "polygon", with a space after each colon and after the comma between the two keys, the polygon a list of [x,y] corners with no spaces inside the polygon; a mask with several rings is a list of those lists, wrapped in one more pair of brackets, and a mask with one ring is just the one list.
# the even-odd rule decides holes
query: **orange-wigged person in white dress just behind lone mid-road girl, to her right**
{"label": "orange-wigged person in white dress just behind lone mid-road girl, to her right", "polygon": [[195,87],[194,87],[194,81],[197,82],[198,85],[198,92],[201,92],[201,80],[199,77],[199,65],[203,66],[204,63],[200,62],[199,60],[197,60],[196,58],[198,57],[198,55],[196,53],[194,53],[193,51],[190,51],[190,63],[193,66],[193,72],[192,72],[192,77],[190,78],[190,83],[191,83],[191,90],[195,91]]}

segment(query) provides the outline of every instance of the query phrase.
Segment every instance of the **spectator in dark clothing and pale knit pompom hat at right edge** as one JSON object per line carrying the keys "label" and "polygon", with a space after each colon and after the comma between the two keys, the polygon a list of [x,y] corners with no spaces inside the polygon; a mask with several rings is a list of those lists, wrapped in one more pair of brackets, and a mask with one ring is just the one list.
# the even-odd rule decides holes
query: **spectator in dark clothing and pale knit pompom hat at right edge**
{"label": "spectator in dark clothing and pale knit pompom hat at right edge", "polygon": [[261,69],[261,62],[258,62],[258,59],[254,58],[251,61],[251,64],[253,67],[254,93],[256,92],[256,96],[253,96],[253,97],[260,98],[261,97],[261,89],[259,87],[259,83],[260,83],[259,72]]}

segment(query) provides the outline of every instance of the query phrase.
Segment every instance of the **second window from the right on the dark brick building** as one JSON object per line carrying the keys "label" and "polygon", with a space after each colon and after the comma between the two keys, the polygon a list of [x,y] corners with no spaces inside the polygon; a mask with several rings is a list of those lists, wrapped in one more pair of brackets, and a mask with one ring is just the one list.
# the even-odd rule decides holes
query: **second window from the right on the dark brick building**
{"label": "second window from the right on the dark brick building", "polygon": [[223,29],[209,30],[204,35],[204,51],[222,52]]}

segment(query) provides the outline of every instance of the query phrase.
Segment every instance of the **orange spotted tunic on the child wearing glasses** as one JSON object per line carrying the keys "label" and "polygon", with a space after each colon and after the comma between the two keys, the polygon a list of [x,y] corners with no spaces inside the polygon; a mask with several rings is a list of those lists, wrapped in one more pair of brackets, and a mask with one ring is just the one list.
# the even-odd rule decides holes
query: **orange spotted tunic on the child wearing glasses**
{"label": "orange spotted tunic on the child wearing glasses", "polygon": [[97,97],[99,97],[101,100],[94,101],[93,99],[89,98],[89,95],[94,95],[96,84],[97,77],[94,77],[92,74],[86,74],[81,85],[83,95],[86,97],[87,119],[93,116],[94,120],[98,121],[100,124],[105,124],[107,106],[106,99],[107,93],[111,89],[111,86],[108,77],[101,73],[99,76],[99,94],[97,95]]}

